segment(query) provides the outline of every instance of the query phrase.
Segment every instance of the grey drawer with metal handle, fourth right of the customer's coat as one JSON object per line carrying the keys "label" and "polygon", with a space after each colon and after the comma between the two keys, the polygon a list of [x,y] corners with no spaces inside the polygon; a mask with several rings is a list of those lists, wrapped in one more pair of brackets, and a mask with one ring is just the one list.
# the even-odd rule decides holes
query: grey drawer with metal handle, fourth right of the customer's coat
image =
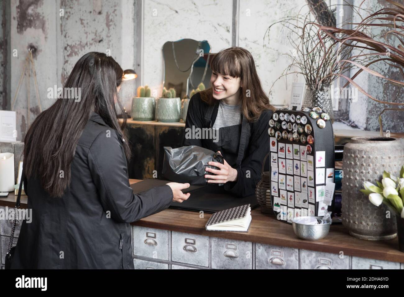
{"label": "grey drawer with metal handle, fourth right of the customer's coat", "polygon": [[256,269],[299,269],[299,249],[255,244]]}

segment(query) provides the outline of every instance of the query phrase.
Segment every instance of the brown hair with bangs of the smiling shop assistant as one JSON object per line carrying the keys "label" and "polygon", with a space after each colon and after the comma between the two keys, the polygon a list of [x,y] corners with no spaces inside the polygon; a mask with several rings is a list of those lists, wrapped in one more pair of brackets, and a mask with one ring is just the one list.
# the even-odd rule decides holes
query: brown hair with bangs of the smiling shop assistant
{"label": "brown hair with bangs of the smiling shop assistant", "polygon": [[[210,68],[214,72],[241,79],[242,112],[249,122],[258,120],[264,110],[276,110],[269,103],[269,98],[261,86],[255,69],[254,59],[245,48],[232,46],[219,51],[213,56]],[[249,91],[249,96],[247,96],[247,91]],[[206,103],[215,103],[211,87],[199,93],[201,99]]]}

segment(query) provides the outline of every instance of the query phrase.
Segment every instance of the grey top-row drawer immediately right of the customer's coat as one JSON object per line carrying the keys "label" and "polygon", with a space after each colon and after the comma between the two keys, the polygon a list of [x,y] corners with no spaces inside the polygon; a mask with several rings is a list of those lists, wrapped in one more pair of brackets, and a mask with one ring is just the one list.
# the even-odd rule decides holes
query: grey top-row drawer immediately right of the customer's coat
{"label": "grey top-row drawer immediately right of the customer's coat", "polygon": [[133,226],[133,254],[168,261],[168,230]]}

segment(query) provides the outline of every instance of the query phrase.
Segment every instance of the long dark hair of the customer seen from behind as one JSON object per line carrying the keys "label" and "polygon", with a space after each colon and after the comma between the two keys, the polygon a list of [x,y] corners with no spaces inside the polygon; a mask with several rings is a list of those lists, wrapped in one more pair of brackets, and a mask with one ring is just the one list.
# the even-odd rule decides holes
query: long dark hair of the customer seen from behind
{"label": "long dark hair of the customer seen from behind", "polygon": [[[61,197],[70,185],[70,164],[93,111],[108,126],[122,133],[126,118],[119,125],[114,100],[117,99],[124,114],[116,90],[122,74],[122,68],[112,57],[97,52],[85,54],[74,65],[64,86],[80,90],[80,100],[63,98],[61,92],[55,103],[41,112],[29,127],[24,139],[23,171],[27,178],[39,179],[50,196]],[[125,155],[130,159],[130,147],[123,137]],[[60,178],[61,170],[63,178]]]}

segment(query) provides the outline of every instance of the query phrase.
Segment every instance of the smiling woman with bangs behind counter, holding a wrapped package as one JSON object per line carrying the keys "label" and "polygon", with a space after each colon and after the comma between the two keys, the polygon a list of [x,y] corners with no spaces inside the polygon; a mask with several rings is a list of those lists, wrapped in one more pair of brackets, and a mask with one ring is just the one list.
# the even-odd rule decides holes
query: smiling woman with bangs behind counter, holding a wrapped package
{"label": "smiling woman with bangs behind counter, holding a wrapped package", "polygon": [[269,152],[268,122],[275,107],[269,104],[249,51],[233,46],[214,55],[210,88],[192,96],[185,128],[217,129],[218,139],[183,139],[183,145],[198,145],[220,152],[224,164],[211,162],[208,183],[217,191],[238,196],[254,194]]}

